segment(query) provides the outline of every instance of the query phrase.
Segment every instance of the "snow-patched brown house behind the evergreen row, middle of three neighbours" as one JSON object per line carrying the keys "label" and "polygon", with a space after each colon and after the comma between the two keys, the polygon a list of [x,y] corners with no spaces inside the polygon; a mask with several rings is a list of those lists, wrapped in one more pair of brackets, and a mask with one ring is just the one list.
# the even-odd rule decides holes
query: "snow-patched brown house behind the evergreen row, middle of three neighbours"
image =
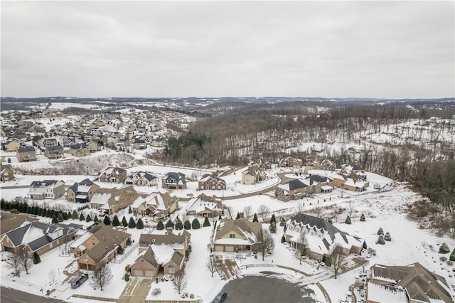
{"label": "snow-patched brown house behind the evergreen row, middle of three neighbours", "polygon": [[145,198],[144,213],[154,218],[164,218],[178,210],[178,198],[166,193],[152,193]]}

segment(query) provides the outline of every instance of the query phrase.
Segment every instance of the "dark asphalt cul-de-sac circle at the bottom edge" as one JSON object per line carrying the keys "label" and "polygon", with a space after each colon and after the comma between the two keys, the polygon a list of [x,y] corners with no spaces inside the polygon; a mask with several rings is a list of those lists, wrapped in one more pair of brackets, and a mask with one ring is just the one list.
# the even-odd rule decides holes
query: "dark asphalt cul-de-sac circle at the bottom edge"
{"label": "dark asphalt cul-de-sac circle at the bottom edge", "polygon": [[223,290],[228,293],[225,303],[299,302],[316,303],[309,297],[313,290],[296,287],[286,280],[264,276],[244,276],[230,281]]}

